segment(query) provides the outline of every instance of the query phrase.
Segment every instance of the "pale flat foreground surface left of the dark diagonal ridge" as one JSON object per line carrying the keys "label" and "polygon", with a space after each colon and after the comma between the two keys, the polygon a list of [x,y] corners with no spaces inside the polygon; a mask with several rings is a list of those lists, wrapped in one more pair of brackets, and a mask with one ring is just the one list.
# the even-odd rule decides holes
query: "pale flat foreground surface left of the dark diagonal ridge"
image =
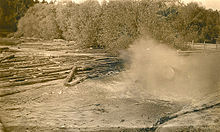
{"label": "pale flat foreground surface left of the dark diagonal ridge", "polygon": [[[86,80],[74,87],[62,81],[1,98],[7,131],[98,131],[151,127],[161,116],[182,106],[149,98],[143,100],[110,80]],[[52,84],[51,84],[52,83]],[[28,87],[28,86],[27,86]]]}

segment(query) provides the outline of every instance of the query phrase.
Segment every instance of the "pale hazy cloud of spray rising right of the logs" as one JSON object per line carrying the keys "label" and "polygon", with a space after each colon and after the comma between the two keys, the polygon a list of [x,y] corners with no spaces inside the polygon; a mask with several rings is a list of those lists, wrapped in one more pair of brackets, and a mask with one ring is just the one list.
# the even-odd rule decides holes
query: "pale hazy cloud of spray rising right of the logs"
{"label": "pale hazy cloud of spray rising right of the logs", "polygon": [[220,55],[181,56],[154,40],[138,40],[122,58],[127,62],[127,82],[132,91],[160,98],[195,99],[219,92]]}

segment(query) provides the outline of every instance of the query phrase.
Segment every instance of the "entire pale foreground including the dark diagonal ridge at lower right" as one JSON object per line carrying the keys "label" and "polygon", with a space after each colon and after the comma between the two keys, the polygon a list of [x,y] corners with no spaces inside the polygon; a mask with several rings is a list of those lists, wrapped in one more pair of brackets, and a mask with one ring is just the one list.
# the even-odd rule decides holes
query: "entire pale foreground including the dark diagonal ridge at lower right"
{"label": "entire pale foreground including the dark diagonal ridge at lower right", "polygon": [[[62,80],[1,98],[7,131],[218,131],[219,105],[211,97],[186,102],[143,98],[123,87],[121,77],[89,79],[73,87]],[[30,87],[30,86],[23,86]],[[206,104],[206,106],[205,106]]]}

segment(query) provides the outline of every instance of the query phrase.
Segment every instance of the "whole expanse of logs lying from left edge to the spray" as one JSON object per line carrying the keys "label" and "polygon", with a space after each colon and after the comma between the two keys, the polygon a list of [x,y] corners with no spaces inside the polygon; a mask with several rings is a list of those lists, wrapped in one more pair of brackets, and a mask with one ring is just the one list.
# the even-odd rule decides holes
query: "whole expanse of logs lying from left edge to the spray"
{"label": "whole expanse of logs lying from left edge to the spray", "polygon": [[[59,51],[58,54],[51,54],[50,51],[56,50]],[[117,57],[99,52],[77,52],[74,47],[63,43],[22,41],[18,45],[1,46],[0,97],[35,89],[32,86],[20,86],[53,80],[64,80],[64,85],[73,86],[88,78],[120,71],[122,67],[122,61]]]}

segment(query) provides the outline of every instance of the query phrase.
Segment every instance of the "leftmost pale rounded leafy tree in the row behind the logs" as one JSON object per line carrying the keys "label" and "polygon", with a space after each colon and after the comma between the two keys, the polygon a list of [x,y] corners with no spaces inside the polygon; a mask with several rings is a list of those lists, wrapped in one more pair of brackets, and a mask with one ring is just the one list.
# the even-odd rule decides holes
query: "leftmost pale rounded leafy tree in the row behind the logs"
{"label": "leftmost pale rounded leafy tree in the row behind the logs", "polygon": [[39,3],[31,7],[18,23],[15,36],[54,39],[60,37],[56,8],[53,4]]}

